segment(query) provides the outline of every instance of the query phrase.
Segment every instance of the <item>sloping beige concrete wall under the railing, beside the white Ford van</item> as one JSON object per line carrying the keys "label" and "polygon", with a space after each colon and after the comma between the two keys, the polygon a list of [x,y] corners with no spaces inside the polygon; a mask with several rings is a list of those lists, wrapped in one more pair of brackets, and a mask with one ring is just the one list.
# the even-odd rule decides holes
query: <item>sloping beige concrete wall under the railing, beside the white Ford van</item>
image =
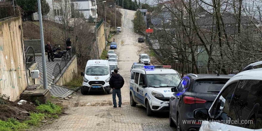
{"label": "sloping beige concrete wall under the railing, beside the white Ford van", "polygon": [[55,85],[63,86],[67,82],[71,81],[74,77],[74,74],[77,74],[77,57],[74,55],[72,57],[72,62],[67,64],[67,68],[64,68],[62,74],[57,76],[58,80],[55,82]]}

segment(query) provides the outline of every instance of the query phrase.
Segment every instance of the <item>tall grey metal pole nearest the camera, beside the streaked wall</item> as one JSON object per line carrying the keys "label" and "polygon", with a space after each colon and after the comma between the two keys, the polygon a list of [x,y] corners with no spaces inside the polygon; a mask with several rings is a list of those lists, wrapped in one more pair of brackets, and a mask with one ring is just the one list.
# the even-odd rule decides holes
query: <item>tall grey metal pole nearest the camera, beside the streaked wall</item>
{"label": "tall grey metal pole nearest the camera, beside the streaked wall", "polygon": [[44,89],[48,89],[47,75],[46,75],[45,45],[44,45],[45,42],[44,42],[43,20],[42,20],[42,12],[41,12],[41,2],[40,2],[40,0],[38,0],[38,16],[39,16],[39,26],[40,26],[42,65],[43,65],[43,82],[44,82]]}

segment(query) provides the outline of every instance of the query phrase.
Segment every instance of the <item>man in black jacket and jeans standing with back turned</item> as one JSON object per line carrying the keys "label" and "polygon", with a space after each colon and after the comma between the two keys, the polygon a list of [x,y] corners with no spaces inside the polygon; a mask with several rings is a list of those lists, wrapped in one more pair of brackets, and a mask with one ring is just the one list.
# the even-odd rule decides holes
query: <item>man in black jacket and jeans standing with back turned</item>
{"label": "man in black jacket and jeans standing with back turned", "polygon": [[122,100],[121,100],[121,88],[123,87],[125,81],[124,78],[118,74],[118,69],[114,69],[114,73],[110,77],[109,85],[113,89],[113,105],[116,106],[116,95],[118,97],[118,107],[121,107]]}

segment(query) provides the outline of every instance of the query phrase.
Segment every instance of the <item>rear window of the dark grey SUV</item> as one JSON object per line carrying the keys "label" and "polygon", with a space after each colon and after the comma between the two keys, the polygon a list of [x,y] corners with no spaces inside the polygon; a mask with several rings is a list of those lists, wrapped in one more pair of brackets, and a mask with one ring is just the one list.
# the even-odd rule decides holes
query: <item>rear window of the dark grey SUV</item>
{"label": "rear window of the dark grey SUV", "polygon": [[227,80],[197,80],[193,91],[197,93],[218,94]]}

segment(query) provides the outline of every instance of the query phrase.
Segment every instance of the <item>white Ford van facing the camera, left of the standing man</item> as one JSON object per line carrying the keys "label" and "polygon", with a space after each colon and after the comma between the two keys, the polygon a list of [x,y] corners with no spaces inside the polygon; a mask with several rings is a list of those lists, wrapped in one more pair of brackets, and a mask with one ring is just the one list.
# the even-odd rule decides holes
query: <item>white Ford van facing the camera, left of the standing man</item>
{"label": "white Ford van facing the camera, left of the standing man", "polygon": [[88,60],[85,72],[81,72],[84,76],[81,93],[88,94],[90,91],[102,91],[112,94],[109,85],[111,70],[108,60]]}

